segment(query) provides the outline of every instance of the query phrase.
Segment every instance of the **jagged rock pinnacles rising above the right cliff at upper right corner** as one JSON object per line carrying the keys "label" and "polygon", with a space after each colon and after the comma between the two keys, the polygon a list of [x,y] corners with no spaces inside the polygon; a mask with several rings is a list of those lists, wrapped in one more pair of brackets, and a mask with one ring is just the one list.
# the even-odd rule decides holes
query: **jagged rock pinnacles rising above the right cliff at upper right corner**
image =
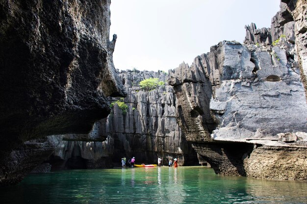
{"label": "jagged rock pinnacles rising above the right cliff at upper right corner", "polygon": [[304,86],[307,87],[306,1],[281,0],[280,7],[280,11],[272,18],[271,28],[256,29],[255,23],[252,23],[251,26],[245,26],[244,44],[271,45],[273,43],[277,45],[287,41],[295,45],[296,53],[292,59],[299,63],[301,78]]}

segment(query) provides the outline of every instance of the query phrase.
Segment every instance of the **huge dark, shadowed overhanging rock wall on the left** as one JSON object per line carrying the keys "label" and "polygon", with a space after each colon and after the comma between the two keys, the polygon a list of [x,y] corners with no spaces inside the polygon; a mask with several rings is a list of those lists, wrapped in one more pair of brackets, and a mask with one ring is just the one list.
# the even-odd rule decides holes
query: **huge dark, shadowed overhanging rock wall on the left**
{"label": "huge dark, shadowed overhanging rock wall on the left", "polygon": [[5,181],[13,149],[42,136],[87,134],[109,114],[107,97],[125,95],[112,62],[116,35],[110,42],[109,5],[0,2],[1,183],[22,178]]}

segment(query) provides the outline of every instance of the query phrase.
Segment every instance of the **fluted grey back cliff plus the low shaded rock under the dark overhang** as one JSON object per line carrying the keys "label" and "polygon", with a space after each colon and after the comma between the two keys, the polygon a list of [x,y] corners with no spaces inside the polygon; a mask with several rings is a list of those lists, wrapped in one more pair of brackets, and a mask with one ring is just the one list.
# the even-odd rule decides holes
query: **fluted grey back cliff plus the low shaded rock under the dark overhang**
{"label": "fluted grey back cliff plus the low shaded rock under the dark overhang", "polygon": [[[110,98],[114,103],[112,111],[106,119],[95,123],[89,137],[91,142],[63,141],[49,161],[52,168],[105,168],[113,163],[118,166],[124,156],[135,157],[137,163],[157,163],[160,157],[164,165],[174,158],[179,158],[179,165],[197,164],[197,155],[177,124],[173,88],[165,84],[152,91],[143,91],[139,86],[148,78],[165,82],[167,74],[134,69],[119,72],[119,77],[127,97]],[[121,109],[115,103],[118,100],[125,102],[127,109]],[[80,136],[69,135],[64,139],[77,137]],[[104,137],[108,137],[109,142],[97,141]],[[101,160],[109,163],[103,166]],[[89,166],[88,162],[96,165]]]}

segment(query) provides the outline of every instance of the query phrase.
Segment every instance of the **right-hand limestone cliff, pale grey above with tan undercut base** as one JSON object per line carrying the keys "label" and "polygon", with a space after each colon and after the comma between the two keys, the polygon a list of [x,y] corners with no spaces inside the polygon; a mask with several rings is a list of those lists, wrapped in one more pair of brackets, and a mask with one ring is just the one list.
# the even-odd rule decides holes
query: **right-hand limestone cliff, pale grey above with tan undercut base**
{"label": "right-hand limestone cliff, pale grey above with tan undercut base", "polygon": [[216,173],[307,180],[306,1],[281,5],[271,29],[246,26],[246,45],[223,41],[171,73],[180,128]]}

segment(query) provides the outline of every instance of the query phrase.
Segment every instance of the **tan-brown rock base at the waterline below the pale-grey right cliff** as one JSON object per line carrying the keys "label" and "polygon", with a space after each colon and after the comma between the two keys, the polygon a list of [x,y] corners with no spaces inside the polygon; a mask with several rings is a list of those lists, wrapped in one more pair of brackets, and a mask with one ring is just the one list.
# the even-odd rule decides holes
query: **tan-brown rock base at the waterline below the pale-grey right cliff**
{"label": "tan-brown rock base at the waterline below the pale-grey right cliff", "polygon": [[307,148],[258,146],[244,159],[246,175],[260,179],[307,180]]}

